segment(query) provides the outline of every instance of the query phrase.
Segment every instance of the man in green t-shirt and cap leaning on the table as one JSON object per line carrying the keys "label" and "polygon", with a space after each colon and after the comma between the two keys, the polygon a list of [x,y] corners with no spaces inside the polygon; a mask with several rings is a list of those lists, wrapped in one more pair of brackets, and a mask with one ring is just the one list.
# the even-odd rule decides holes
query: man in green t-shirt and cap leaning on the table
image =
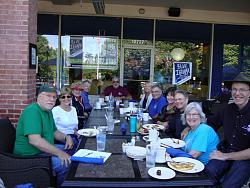
{"label": "man in green t-shirt and cap leaning on the table", "polygon": [[[73,141],[55,126],[51,112],[55,101],[55,88],[42,85],[37,102],[27,106],[18,120],[14,153],[22,156],[52,155],[52,168],[60,186],[71,162],[70,156],[62,149],[71,149]],[[65,141],[65,145],[54,145],[54,139]]]}

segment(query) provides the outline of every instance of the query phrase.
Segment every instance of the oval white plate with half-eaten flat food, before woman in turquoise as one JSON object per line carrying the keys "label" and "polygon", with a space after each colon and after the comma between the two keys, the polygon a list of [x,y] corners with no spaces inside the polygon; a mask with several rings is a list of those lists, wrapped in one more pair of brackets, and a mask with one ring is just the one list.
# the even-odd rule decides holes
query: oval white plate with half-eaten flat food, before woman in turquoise
{"label": "oval white plate with half-eaten flat food, before woman in turquoise", "polygon": [[172,161],[167,163],[173,170],[184,173],[198,173],[204,169],[204,164],[196,159],[187,157],[172,158]]}

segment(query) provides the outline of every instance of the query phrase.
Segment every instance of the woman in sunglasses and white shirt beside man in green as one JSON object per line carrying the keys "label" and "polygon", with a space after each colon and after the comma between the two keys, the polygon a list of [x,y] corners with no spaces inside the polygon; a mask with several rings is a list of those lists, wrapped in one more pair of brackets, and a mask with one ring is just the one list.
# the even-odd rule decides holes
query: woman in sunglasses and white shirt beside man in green
{"label": "woman in sunglasses and white shirt beside man in green", "polygon": [[[75,107],[71,106],[71,90],[63,88],[60,91],[59,102],[60,105],[52,109],[53,118],[57,129],[64,134],[70,135],[74,141],[74,149],[78,144],[77,128],[78,117]],[[74,149],[72,152],[74,152]]]}

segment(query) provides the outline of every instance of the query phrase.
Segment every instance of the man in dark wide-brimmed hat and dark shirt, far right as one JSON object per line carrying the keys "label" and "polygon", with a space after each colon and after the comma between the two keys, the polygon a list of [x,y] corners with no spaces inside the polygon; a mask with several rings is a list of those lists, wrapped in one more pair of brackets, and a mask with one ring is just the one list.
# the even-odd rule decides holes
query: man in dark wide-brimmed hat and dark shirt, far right
{"label": "man in dark wide-brimmed hat and dark shirt, far right", "polygon": [[220,151],[211,153],[206,169],[214,183],[240,188],[250,177],[250,78],[240,73],[228,82],[234,103],[210,120],[223,126],[225,141],[219,144],[223,147],[217,147]]}

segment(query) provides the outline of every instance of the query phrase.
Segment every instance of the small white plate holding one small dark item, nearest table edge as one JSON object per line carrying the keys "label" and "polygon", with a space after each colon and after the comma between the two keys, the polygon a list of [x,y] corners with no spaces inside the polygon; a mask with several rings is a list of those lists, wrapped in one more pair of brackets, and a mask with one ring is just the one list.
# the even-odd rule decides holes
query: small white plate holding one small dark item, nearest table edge
{"label": "small white plate holding one small dark item, nearest table edge", "polygon": [[[157,175],[157,170],[161,171],[161,175]],[[175,177],[175,171],[166,167],[153,167],[148,170],[148,174],[156,179],[167,180]]]}

